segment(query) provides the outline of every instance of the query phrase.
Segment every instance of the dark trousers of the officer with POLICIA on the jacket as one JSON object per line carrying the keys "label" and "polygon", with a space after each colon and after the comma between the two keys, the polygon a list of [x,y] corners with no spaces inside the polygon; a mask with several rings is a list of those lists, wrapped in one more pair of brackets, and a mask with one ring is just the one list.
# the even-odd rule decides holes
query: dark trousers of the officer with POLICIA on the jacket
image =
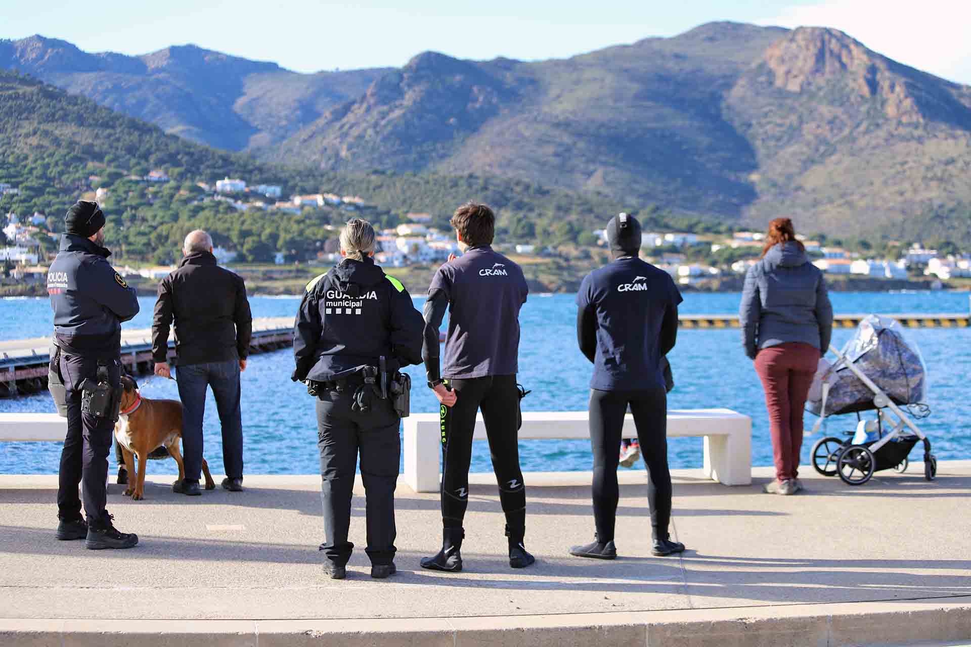
{"label": "dark trousers of the officer with POLICIA on the jacket", "polygon": [[[109,381],[117,388],[121,381],[121,364],[118,360],[109,360],[107,365]],[[67,437],[64,438],[58,472],[57,516],[61,519],[81,516],[78,485],[83,482],[87,523],[99,528],[106,523],[108,493],[105,482],[115,421],[81,411],[81,384],[85,377],[93,379],[96,376],[97,360],[61,353],[59,368],[67,392]]]}

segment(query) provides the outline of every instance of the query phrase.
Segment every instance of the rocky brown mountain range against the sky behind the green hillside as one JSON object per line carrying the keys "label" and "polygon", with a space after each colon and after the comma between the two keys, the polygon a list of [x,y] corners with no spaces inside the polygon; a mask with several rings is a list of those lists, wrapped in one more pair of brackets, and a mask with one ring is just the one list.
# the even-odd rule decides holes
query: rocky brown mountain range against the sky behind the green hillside
{"label": "rocky brown mountain range against the sky behind the green hillside", "polygon": [[[506,176],[840,237],[971,235],[971,87],[826,28],[717,22],[562,60],[302,75],[194,46],[0,41],[0,67],[326,172]],[[955,234],[956,232],[956,234]]]}

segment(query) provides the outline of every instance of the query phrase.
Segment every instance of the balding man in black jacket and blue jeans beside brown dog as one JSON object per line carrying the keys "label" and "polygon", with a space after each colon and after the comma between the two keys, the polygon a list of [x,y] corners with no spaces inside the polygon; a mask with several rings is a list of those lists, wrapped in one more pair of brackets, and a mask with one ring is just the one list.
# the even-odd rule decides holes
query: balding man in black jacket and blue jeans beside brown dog
{"label": "balding man in black jacket and blue jeans beside brown dog", "polygon": [[243,279],[218,267],[213,239],[202,230],[185,237],[179,269],[158,284],[151,324],[155,374],[170,376],[169,328],[176,325],[176,366],[183,403],[185,477],[175,492],[198,496],[202,470],[202,415],[206,387],[213,388],[222,427],[222,487],[243,489],[243,421],[240,414],[240,372],[250,354],[252,315]]}

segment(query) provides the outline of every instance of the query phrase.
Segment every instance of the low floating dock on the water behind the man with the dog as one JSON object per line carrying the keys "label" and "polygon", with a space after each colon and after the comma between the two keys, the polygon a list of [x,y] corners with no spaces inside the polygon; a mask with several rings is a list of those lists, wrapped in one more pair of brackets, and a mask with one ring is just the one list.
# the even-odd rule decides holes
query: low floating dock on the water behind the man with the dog
{"label": "low floating dock on the water behind the man with the dog", "polygon": [[[250,354],[293,345],[293,319],[253,319]],[[175,357],[175,339],[169,336],[169,357]],[[121,363],[133,375],[151,372],[151,329],[121,330]],[[50,338],[0,341],[0,398],[29,395],[48,388]]]}

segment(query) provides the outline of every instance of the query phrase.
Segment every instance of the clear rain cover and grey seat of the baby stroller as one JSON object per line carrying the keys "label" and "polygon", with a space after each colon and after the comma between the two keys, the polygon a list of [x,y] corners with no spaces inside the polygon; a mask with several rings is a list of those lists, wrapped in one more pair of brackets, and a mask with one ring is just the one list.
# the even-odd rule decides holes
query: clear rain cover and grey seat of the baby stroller
{"label": "clear rain cover and grey seat of the baby stroller", "polygon": [[[843,347],[843,355],[894,404],[919,404],[926,397],[927,371],[921,351],[904,338],[901,328],[895,319],[870,314],[856,327],[853,339]],[[821,398],[807,403],[812,413],[828,416],[875,408],[876,394],[843,361],[834,364],[828,374],[817,377],[828,381],[831,388],[825,411]]]}

